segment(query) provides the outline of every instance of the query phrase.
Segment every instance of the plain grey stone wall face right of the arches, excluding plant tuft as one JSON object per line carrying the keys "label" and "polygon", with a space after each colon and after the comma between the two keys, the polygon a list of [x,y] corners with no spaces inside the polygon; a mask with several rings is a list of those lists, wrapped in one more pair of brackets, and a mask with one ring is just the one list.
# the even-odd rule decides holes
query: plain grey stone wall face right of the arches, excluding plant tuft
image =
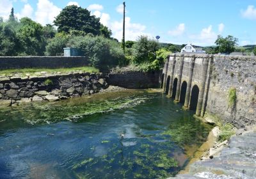
{"label": "plain grey stone wall face right of the arches, excluding plant tuft", "polygon": [[[237,127],[256,123],[256,58],[214,56],[206,111]],[[236,89],[235,105],[228,104],[228,90]]]}

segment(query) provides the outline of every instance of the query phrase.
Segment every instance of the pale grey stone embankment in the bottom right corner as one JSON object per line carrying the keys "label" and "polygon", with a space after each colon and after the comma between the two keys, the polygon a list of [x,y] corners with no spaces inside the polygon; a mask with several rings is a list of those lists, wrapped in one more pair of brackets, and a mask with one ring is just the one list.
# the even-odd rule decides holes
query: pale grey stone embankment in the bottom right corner
{"label": "pale grey stone embankment in the bottom right corner", "polygon": [[[256,127],[237,130],[229,142],[216,144],[209,158],[189,166],[188,174],[173,178],[252,179],[256,178]],[[171,179],[171,178],[170,178]]]}

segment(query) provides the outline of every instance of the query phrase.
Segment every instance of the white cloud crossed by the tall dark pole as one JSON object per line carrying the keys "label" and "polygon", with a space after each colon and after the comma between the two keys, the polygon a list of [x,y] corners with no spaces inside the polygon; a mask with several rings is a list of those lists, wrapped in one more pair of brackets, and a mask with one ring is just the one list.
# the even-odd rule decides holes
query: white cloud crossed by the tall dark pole
{"label": "white cloud crossed by the tall dark pole", "polygon": [[[123,20],[112,22],[110,28],[113,31],[113,37],[122,40]],[[136,40],[141,35],[151,36],[145,33],[145,29],[146,26],[142,24],[131,23],[130,17],[125,18],[125,40]]]}

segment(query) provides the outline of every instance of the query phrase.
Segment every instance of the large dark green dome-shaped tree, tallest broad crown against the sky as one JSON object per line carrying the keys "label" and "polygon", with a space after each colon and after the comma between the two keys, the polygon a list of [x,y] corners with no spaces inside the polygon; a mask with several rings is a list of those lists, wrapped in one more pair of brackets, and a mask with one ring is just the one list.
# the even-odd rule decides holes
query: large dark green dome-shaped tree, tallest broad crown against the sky
{"label": "large dark green dome-shaped tree, tallest broad crown against the sky", "polygon": [[69,33],[71,30],[84,31],[100,35],[100,19],[90,15],[90,11],[75,5],[66,6],[54,20],[58,32]]}

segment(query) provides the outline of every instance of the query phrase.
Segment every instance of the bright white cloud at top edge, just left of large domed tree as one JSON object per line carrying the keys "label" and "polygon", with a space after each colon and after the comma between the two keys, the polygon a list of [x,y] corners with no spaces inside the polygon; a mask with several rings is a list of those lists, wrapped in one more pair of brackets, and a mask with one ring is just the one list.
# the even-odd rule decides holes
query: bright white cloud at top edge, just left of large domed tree
{"label": "bright white cloud at top edge, just left of large domed tree", "polygon": [[61,9],[49,0],[38,0],[35,20],[42,25],[52,24],[54,17],[59,15]]}

